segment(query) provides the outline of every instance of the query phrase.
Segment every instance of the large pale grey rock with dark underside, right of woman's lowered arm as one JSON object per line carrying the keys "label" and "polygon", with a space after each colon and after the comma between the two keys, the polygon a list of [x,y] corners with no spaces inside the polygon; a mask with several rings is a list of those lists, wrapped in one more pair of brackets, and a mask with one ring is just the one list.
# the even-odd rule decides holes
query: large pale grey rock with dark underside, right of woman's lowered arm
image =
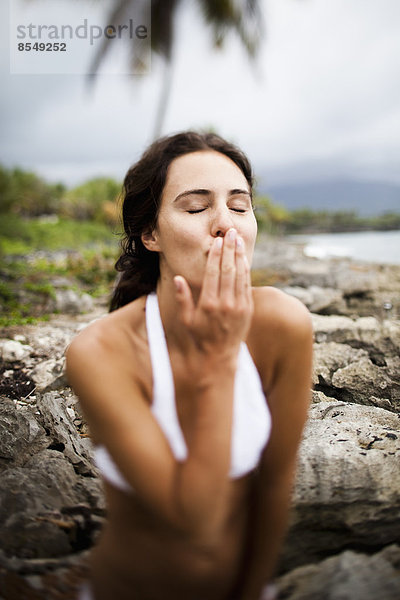
{"label": "large pale grey rock with dark underside, right of woman's lowered arm", "polygon": [[319,402],[300,448],[288,568],[400,537],[400,420],[375,407]]}

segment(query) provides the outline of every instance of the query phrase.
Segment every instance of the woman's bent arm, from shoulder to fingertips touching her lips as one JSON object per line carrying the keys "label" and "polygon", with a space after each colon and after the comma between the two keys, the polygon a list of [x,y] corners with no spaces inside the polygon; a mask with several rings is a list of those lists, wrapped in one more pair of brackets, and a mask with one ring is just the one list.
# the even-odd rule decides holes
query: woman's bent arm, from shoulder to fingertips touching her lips
{"label": "woman's bent arm, from shoulder to fingertips touching her lips", "polygon": [[177,405],[184,406],[187,460],[177,462],[140,385],[121,369],[121,353],[98,327],[67,354],[68,376],[97,440],[104,443],[137,496],[184,534],[217,532],[230,467],[234,378],[240,341],[252,316],[249,269],[235,236],[209,252],[195,304],[176,278],[178,319],[171,363]]}

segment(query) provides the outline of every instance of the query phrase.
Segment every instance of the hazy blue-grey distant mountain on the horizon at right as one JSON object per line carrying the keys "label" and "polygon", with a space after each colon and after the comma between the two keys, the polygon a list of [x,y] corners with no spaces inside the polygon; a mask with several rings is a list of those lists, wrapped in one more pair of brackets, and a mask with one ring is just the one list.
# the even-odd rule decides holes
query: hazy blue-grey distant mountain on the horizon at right
{"label": "hazy blue-grey distant mountain on the horizon at right", "polygon": [[355,211],[360,216],[385,212],[400,213],[400,185],[376,181],[333,180],[260,185],[267,194],[288,210],[310,208],[314,211]]}

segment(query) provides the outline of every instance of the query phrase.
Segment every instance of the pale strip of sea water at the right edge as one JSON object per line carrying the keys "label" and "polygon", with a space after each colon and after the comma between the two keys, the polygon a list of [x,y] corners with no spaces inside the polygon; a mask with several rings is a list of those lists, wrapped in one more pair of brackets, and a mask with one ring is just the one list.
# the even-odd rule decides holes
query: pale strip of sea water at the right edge
{"label": "pale strip of sea water at the right edge", "polygon": [[373,263],[400,264],[400,230],[292,235],[289,239],[305,243],[304,253],[315,258],[348,257]]}

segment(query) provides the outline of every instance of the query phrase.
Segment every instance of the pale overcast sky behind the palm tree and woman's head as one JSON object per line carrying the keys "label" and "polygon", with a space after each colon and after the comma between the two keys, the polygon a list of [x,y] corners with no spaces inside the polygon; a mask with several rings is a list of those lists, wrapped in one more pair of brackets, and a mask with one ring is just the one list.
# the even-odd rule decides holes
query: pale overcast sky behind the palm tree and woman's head
{"label": "pale overcast sky behind the palm tree and woman's head", "polygon": [[[399,0],[262,0],[255,65],[235,40],[213,51],[195,3],[182,5],[163,133],[212,126],[271,183],[400,183]],[[6,9],[1,0],[0,162],[68,185],[122,178],[151,140],[162,61],[103,75],[90,94],[80,75],[10,75]]]}

